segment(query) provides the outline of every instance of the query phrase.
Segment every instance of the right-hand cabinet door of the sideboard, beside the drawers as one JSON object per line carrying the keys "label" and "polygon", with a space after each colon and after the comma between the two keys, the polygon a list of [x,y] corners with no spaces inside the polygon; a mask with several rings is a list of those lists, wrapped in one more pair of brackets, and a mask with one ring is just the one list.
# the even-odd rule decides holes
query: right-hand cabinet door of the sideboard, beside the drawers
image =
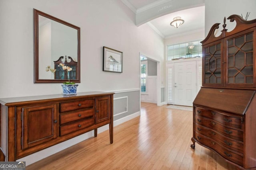
{"label": "right-hand cabinet door of the sideboard, beside the drawers", "polygon": [[95,123],[110,122],[110,97],[96,98]]}

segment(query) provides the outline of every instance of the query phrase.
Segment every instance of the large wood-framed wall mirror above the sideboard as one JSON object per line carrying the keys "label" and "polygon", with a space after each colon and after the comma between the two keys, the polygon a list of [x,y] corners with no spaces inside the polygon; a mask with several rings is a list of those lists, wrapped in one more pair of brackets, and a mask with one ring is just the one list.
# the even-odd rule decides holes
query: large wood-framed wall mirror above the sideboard
{"label": "large wood-framed wall mirror above the sideboard", "polygon": [[[34,82],[80,82],[80,27],[34,9]],[[56,69],[55,72],[47,71]]]}

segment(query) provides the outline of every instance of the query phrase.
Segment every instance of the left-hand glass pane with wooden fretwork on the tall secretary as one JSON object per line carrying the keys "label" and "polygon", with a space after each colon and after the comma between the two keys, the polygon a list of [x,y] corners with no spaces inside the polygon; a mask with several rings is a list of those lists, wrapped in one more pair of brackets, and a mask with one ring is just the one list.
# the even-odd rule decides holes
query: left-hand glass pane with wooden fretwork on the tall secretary
{"label": "left-hand glass pane with wooden fretwork on the tall secretary", "polygon": [[204,84],[222,84],[221,43],[204,47]]}

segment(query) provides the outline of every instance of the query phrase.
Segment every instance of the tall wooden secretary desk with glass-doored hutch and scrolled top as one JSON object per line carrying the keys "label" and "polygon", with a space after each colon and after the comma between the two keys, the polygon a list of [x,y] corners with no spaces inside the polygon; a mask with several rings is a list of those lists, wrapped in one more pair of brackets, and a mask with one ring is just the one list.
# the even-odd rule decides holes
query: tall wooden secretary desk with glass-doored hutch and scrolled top
{"label": "tall wooden secretary desk with glass-doored hutch and scrolled top", "polygon": [[210,29],[201,42],[202,87],[193,102],[195,143],[213,150],[238,169],[256,170],[256,19],[227,18],[236,27],[220,36]]}

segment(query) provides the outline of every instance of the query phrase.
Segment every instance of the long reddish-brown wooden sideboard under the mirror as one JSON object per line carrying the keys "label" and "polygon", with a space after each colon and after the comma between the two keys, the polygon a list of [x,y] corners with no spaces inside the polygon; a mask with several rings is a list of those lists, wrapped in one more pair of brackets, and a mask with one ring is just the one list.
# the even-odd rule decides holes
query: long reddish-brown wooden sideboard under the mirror
{"label": "long reddish-brown wooden sideboard under the mirror", "polygon": [[16,161],[109,124],[113,143],[113,95],[84,92],[0,99],[0,161]]}

